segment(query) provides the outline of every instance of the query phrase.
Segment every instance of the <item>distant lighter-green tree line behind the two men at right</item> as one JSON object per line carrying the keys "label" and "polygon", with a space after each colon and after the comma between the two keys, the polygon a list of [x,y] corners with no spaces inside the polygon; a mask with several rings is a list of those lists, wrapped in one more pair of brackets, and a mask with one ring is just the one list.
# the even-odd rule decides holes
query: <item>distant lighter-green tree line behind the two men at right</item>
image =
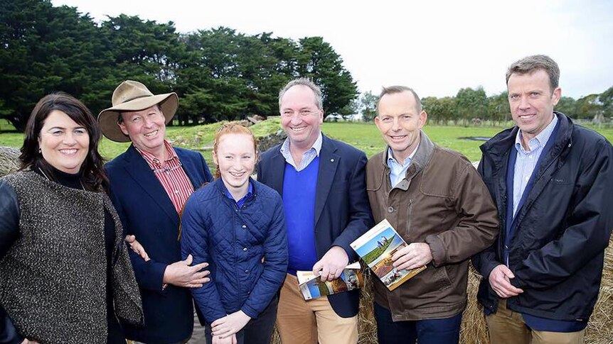
{"label": "distant lighter-green tree line behind the two men at right", "polygon": [[[422,104],[428,113],[428,121],[435,124],[499,124],[511,121],[511,111],[508,106],[506,91],[493,96],[487,96],[482,87],[460,89],[456,96],[437,98],[427,96],[422,98]],[[376,113],[378,96],[371,91],[362,94],[352,104],[356,112],[362,113],[364,121],[372,121]],[[590,94],[580,99],[563,96],[556,111],[579,120],[590,120],[595,123],[611,123],[613,121],[613,87],[601,94]]]}

